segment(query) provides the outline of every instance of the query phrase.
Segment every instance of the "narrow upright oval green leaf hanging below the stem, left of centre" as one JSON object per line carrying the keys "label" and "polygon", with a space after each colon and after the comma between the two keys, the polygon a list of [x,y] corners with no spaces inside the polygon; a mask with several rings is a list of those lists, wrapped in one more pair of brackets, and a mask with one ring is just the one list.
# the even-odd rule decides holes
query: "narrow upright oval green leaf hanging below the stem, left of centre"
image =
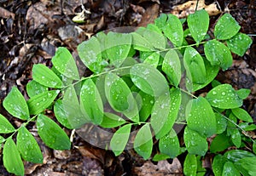
{"label": "narrow upright oval green leaf hanging below the stem, left of centre", "polygon": [[103,119],[102,98],[91,79],[84,81],[80,92],[80,102],[90,121],[94,124],[101,124]]}

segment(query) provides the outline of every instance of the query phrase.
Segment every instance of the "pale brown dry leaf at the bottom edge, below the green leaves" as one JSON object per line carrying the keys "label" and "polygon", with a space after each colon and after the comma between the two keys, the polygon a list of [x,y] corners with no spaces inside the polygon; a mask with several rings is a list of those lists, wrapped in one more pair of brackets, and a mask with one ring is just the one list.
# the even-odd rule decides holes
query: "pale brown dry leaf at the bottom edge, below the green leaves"
{"label": "pale brown dry leaf at the bottom edge, below the green leaves", "polygon": [[172,164],[165,161],[160,161],[157,165],[147,161],[142,167],[134,167],[134,171],[137,176],[165,176],[165,175],[183,175],[183,169],[181,163],[177,158],[173,159]]}

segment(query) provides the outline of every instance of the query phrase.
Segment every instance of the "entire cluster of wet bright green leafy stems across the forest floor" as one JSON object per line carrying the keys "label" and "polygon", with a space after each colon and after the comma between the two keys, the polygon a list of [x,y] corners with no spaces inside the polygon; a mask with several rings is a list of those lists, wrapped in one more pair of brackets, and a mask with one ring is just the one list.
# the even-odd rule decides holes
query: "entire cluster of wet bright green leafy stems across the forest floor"
{"label": "entire cluster of wet bright green leafy stems across the forest floor", "polygon": [[[185,24],[188,28],[183,30]],[[247,133],[256,126],[241,108],[250,91],[214,80],[219,69],[232,65],[231,52],[243,55],[252,39],[239,32],[241,27],[230,14],[220,17],[212,39],[208,27],[207,11],[199,10],[182,20],[162,14],[154,24],[131,33],[97,33],[78,47],[80,60],[92,72],[90,77],[80,77],[67,48],[57,49],[51,69],[33,65],[33,79],[26,86],[30,99],[14,87],[3,100],[9,114],[24,122],[14,128],[0,115],[0,133],[10,134],[4,135],[6,139],[0,136],[4,166],[9,173],[23,175],[22,159],[43,162],[38,143],[26,128],[28,123],[34,122],[44,144],[55,150],[71,147],[61,127],[93,123],[116,129],[106,144],[116,156],[126,149],[136,128],[133,148],[144,159],[152,156],[157,140],[154,161],[188,151],[183,167],[186,175],[206,173],[201,159],[207,153],[215,154],[215,175],[255,175],[256,145]],[[191,40],[194,43],[188,43]],[[203,51],[199,53],[198,48]],[[195,97],[195,91],[211,83],[205,97]],[[54,111],[55,120],[45,115],[46,109]],[[177,137],[175,124],[184,125],[182,139]],[[208,146],[207,138],[213,135]],[[230,147],[236,150],[227,150]]]}

